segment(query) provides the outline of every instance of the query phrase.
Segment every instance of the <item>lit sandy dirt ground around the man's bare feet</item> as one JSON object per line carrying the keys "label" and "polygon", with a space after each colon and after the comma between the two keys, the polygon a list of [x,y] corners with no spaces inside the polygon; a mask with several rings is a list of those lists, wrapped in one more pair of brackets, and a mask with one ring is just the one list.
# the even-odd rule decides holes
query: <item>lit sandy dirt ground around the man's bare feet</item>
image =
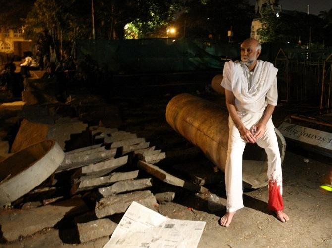
{"label": "lit sandy dirt ground around the man's bare feet", "polygon": [[[220,104],[224,101],[222,97],[207,98]],[[274,116],[275,125],[280,124],[287,114],[284,106],[279,106]],[[305,158],[309,162],[304,162]],[[204,166],[204,159],[200,164]],[[211,170],[207,160],[206,165],[206,169]],[[284,211],[290,217],[286,223],[277,220],[267,209],[267,186],[246,190],[243,194],[245,207],[237,211],[228,228],[218,224],[225,211],[209,211],[207,201],[201,199],[206,198],[204,195],[182,192],[174,202],[160,205],[158,211],[170,218],[206,221],[199,248],[332,247],[332,193],[319,190],[322,178],[331,167],[331,159],[297,147],[286,148],[283,198]],[[223,180],[206,187],[221,197],[222,203],[225,202]]]}

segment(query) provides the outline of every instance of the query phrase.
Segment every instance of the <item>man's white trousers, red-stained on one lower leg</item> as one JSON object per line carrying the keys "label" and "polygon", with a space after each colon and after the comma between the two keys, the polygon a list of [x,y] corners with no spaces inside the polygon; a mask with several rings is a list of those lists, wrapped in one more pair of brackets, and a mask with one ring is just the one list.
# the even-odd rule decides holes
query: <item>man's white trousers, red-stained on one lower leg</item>
{"label": "man's white trousers, red-stained on one lower leg", "polygon": [[[238,113],[242,123],[247,129],[258,123],[263,113]],[[240,137],[240,133],[233,120],[229,116],[229,138],[228,156],[225,167],[225,183],[227,193],[227,212],[234,212],[243,208],[242,199],[242,155],[246,142]],[[257,140],[257,144],[265,149],[268,157],[267,178],[269,182],[276,182],[279,186],[280,198],[282,201],[282,170],[281,158],[278,147],[277,136],[274,131],[272,120],[266,124],[266,130],[262,138]],[[270,185],[270,184],[269,184]],[[270,188],[269,188],[270,190]],[[269,201],[270,204],[270,201]],[[275,210],[274,206],[269,206]],[[280,208],[280,206],[277,206]],[[282,202],[283,208],[283,202]],[[278,209],[282,210],[282,209]]]}

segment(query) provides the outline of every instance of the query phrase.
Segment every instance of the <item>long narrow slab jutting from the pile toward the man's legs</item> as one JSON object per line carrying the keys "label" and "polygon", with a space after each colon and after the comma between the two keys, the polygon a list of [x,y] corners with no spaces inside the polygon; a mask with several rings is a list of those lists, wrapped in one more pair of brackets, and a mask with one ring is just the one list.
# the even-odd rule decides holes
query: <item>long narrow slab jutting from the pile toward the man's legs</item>
{"label": "long narrow slab jutting from the pile toward the man's legs", "polygon": [[139,168],[145,170],[147,173],[155,176],[156,178],[162,180],[163,182],[165,182],[167,184],[180,186],[180,187],[183,187],[183,188],[188,189],[195,193],[204,193],[204,192],[209,191],[207,188],[205,188],[203,186],[195,185],[191,182],[184,181],[183,179],[177,178],[177,177],[167,173],[166,171],[160,169],[159,167],[146,163],[142,160],[139,160],[137,165]]}

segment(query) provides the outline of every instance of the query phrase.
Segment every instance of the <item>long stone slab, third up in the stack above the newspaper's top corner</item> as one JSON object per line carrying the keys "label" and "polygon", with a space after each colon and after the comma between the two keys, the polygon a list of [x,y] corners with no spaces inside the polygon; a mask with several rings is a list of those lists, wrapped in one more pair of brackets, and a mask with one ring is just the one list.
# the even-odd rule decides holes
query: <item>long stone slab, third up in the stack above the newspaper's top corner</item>
{"label": "long stone slab, third up in the stack above the newspaper's top corner", "polygon": [[101,185],[111,184],[121,180],[134,179],[138,176],[138,170],[131,172],[114,172],[111,175],[94,178],[94,177],[82,177],[71,188],[71,193],[74,194],[78,191],[88,190]]}

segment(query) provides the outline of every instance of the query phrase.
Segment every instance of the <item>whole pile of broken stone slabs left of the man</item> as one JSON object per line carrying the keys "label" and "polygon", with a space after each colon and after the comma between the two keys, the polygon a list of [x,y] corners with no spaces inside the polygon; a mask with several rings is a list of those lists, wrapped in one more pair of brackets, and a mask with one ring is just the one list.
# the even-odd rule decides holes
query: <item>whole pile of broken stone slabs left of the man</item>
{"label": "whole pile of broken stone slabs left of the man", "polygon": [[[76,123],[76,129],[71,128],[73,123]],[[133,201],[153,209],[157,202],[174,199],[174,192],[153,194],[149,191],[153,178],[194,192],[207,191],[203,186],[186,182],[155,166],[166,157],[165,152],[150,146],[145,138],[116,128],[87,127],[74,119],[59,119],[54,125],[23,120],[11,151],[16,152],[14,155],[19,154],[31,149],[29,143],[45,142],[49,138],[58,140],[63,147],[70,134],[84,129],[88,131],[92,145],[65,152],[62,162],[47,180],[11,204],[8,202],[7,208],[0,211],[2,242],[26,239],[47,228],[57,229],[60,223],[70,220],[76,225],[76,240],[80,243],[108,237],[117,226],[111,217],[123,214]],[[42,156],[47,156],[47,152]],[[35,157],[38,161],[38,156]],[[0,170],[9,158],[0,163]],[[19,159],[29,161],[27,157]],[[8,177],[15,180],[11,175]],[[0,188],[7,178],[1,177]],[[10,205],[12,207],[8,208]]]}

